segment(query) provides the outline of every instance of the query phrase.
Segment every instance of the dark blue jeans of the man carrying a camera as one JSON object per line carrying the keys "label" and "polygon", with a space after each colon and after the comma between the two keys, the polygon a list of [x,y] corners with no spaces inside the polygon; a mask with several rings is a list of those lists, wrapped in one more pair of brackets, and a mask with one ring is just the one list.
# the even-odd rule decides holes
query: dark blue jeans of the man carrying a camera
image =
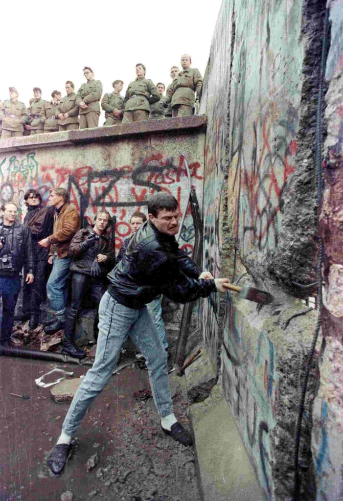
{"label": "dark blue jeans of the man carrying a camera", "polygon": [[3,298],[0,343],[11,339],[20,287],[21,278],[19,273],[14,277],[0,277],[0,296]]}

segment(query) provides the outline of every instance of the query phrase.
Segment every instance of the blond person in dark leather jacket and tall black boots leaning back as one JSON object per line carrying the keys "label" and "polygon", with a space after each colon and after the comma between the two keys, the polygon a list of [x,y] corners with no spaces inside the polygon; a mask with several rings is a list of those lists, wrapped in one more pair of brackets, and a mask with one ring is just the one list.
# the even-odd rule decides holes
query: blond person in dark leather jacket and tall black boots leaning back
{"label": "blond person in dark leather jacket and tall black boots leaning back", "polygon": [[[75,347],[75,326],[81,302],[86,289],[91,287],[97,307],[103,297],[106,286],[105,277],[114,264],[114,253],[106,228],[110,220],[107,211],[96,214],[94,225],[80,229],[70,242],[68,255],[72,258],[72,302],[64,327],[64,345],[62,353],[76,358],[84,358],[86,353]],[[98,308],[97,308],[98,312]],[[95,330],[98,313],[95,317]]]}

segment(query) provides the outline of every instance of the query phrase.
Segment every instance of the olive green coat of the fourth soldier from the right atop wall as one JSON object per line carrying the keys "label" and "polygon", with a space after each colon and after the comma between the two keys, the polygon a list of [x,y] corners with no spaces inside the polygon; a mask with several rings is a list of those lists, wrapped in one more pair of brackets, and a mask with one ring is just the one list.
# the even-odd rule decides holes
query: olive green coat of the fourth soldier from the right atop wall
{"label": "olive green coat of the fourth soldier from the right atop wall", "polygon": [[150,112],[150,104],[157,103],[161,99],[155,84],[148,78],[136,78],[129,83],[125,94],[125,111],[147,110]]}

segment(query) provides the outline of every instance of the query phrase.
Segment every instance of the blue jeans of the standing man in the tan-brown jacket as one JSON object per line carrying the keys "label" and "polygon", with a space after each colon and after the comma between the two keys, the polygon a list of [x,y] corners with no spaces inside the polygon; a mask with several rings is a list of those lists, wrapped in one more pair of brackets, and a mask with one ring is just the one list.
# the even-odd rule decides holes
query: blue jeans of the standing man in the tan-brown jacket
{"label": "blue jeans of the standing man in the tan-brown jacket", "polygon": [[66,304],[68,299],[67,280],[70,275],[71,258],[57,259],[54,256],[53,269],[47,283],[47,296],[51,308],[60,322],[66,321]]}

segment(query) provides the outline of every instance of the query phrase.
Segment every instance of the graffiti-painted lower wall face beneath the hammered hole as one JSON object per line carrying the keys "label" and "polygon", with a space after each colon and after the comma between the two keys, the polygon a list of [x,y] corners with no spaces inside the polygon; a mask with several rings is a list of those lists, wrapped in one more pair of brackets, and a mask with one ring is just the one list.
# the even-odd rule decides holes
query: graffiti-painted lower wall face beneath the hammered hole
{"label": "graffiti-painted lower wall face beneath the hammered hole", "polygon": [[223,388],[254,464],[261,485],[272,498],[271,432],[277,411],[277,381],[274,345],[266,333],[257,335],[257,350],[249,359],[244,318],[230,303],[224,319],[222,345]]}

